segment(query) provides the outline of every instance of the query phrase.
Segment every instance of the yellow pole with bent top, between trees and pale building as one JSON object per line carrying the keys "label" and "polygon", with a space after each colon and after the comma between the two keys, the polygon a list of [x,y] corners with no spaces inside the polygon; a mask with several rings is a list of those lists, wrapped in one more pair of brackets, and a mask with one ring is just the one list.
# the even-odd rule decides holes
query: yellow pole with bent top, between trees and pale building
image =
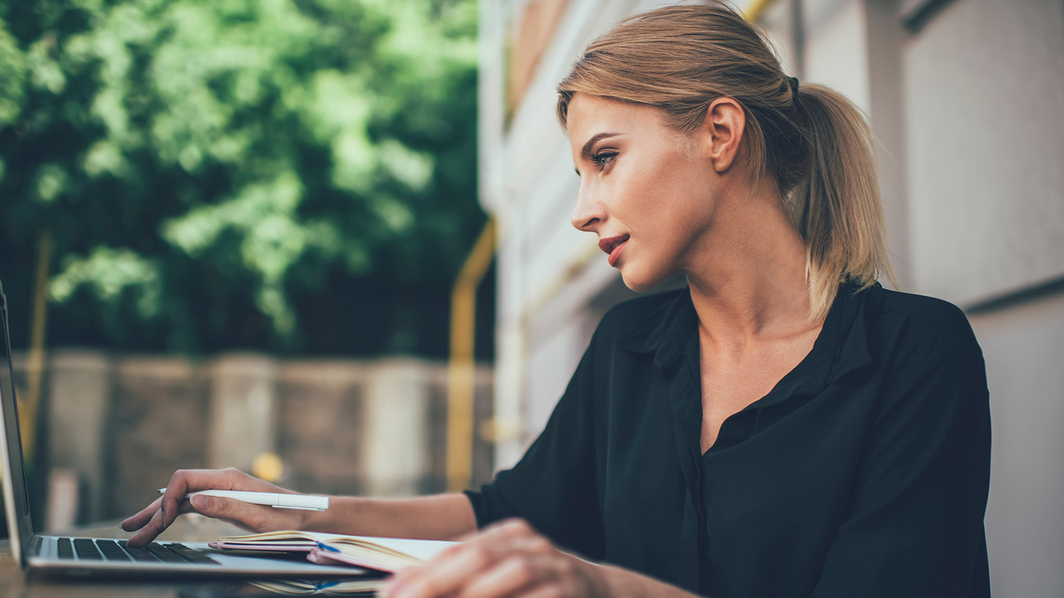
{"label": "yellow pole with bent top, between trees and pale building", "polygon": [[447,491],[461,492],[472,479],[477,287],[495,256],[494,218],[488,218],[451,290],[451,354],[447,367]]}

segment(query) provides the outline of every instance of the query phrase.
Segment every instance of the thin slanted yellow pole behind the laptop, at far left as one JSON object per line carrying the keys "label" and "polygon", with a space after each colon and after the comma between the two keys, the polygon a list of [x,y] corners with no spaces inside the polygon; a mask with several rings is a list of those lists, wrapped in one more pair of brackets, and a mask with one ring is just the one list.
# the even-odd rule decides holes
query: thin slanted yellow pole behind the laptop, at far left
{"label": "thin slanted yellow pole behind the laptop, at far left", "polygon": [[33,461],[34,432],[37,428],[37,405],[40,404],[40,383],[45,375],[45,323],[48,315],[48,266],[52,254],[52,232],[43,229],[37,235],[37,269],[33,285],[33,321],[30,328],[30,354],[26,363],[27,392],[19,410],[22,447],[26,460]]}

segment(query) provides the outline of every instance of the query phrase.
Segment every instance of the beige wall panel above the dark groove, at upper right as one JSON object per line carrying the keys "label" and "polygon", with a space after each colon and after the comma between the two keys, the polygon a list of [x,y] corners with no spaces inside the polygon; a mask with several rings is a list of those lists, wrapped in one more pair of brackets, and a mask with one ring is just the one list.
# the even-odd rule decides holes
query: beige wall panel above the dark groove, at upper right
{"label": "beige wall panel above the dark groove, at upper right", "polygon": [[914,286],[968,305],[1064,276],[1064,3],[955,0],[902,60]]}

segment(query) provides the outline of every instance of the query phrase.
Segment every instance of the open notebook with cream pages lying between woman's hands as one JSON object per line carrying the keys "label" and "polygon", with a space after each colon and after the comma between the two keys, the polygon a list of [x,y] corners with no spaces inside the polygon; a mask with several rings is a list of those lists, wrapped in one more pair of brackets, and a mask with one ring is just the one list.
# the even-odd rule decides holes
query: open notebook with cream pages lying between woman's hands
{"label": "open notebook with cream pages lying between woman's hands", "polygon": [[211,548],[306,552],[309,561],[321,565],[354,565],[390,574],[423,563],[454,544],[437,539],[281,531],[219,537],[211,543]]}

